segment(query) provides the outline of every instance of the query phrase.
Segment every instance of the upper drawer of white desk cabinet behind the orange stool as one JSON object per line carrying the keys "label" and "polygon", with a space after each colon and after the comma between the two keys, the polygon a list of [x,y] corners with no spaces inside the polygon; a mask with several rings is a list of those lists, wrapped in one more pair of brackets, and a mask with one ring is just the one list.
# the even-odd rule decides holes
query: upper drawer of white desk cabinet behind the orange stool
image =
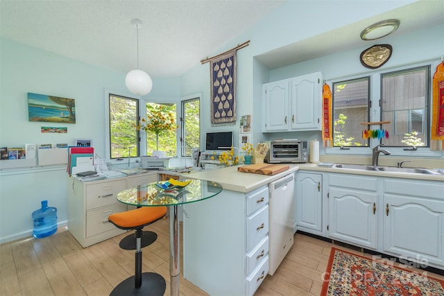
{"label": "upper drawer of white desk cabinet behind the orange stool", "polygon": [[117,202],[116,196],[126,189],[126,180],[101,182],[86,186],[86,209],[104,207]]}

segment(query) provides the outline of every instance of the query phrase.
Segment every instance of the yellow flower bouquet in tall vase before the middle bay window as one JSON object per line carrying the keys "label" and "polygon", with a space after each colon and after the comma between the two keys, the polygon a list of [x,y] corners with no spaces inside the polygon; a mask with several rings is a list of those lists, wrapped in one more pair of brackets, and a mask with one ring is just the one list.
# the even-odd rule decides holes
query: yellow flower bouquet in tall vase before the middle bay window
{"label": "yellow flower bouquet in tall vase before the middle bay window", "polygon": [[139,125],[133,124],[137,130],[153,132],[155,134],[156,149],[159,150],[159,134],[164,131],[176,130],[178,125],[174,121],[173,112],[163,105],[152,104],[148,109],[146,120],[139,121]]}

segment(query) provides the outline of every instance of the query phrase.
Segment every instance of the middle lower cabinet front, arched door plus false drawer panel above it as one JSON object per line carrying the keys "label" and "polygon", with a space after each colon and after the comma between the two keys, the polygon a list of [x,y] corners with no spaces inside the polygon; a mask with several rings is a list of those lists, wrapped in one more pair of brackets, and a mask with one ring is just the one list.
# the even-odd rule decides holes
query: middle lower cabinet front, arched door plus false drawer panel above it
{"label": "middle lower cabinet front, arched door plus false drawer panel above it", "polygon": [[334,173],[328,177],[328,236],[375,250],[377,177]]}

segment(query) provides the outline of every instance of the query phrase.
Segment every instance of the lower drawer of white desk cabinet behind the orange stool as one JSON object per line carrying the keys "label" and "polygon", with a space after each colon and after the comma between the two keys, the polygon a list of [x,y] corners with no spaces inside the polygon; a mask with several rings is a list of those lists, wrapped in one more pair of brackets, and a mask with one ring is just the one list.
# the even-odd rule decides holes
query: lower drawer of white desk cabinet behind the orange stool
{"label": "lower drawer of white desk cabinet behind the orange stool", "polygon": [[86,237],[108,232],[116,227],[108,222],[108,216],[114,213],[126,211],[126,204],[112,204],[86,212]]}

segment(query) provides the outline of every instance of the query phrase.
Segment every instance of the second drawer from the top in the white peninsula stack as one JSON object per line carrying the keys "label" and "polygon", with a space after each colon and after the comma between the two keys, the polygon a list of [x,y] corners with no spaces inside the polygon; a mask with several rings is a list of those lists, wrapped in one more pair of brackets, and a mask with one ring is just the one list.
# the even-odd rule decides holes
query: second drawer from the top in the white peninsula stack
{"label": "second drawer from the top in the white peninsula stack", "polygon": [[268,205],[247,219],[247,251],[253,249],[268,234]]}

